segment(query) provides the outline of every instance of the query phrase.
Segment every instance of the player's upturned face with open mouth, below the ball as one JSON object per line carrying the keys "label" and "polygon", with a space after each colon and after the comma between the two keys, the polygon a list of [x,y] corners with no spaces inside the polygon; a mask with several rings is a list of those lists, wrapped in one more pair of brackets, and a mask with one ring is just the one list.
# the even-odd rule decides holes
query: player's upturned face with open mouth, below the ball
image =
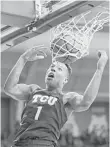
{"label": "player's upturned face with open mouth, below the ball", "polygon": [[65,64],[61,62],[54,62],[49,67],[45,82],[48,86],[59,88],[67,82],[68,69]]}

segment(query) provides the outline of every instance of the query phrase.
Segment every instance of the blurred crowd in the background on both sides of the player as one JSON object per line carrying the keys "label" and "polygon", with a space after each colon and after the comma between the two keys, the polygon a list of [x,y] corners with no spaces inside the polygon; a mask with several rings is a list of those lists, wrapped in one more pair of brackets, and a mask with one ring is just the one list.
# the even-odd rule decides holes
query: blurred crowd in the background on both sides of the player
{"label": "blurred crowd in the background on both sides of the player", "polygon": [[[15,131],[9,133],[4,130],[1,134],[1,147],[11,147],[13,138],[17,133],[19,123],[15,124]],[[109,147],[109,131],[101,128],[101,134],[97,135],[97,129],[94,127],[92,132],[85,130],[80,136],[74,137],[70,129],[61,132],[59,147]]]}

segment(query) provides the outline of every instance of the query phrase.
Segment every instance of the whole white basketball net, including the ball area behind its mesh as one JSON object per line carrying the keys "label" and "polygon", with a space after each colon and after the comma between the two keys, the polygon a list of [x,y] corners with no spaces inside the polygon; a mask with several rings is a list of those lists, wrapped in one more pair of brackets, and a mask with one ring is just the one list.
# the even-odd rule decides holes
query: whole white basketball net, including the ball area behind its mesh
{"label": "whole white basketball net, including the ball area behind its mesh", "polygon": [[[52,62],[64,56],[75,58],[75,60],[71,60],[74,62],[89,54],[89,46],[94,34],[109,22],[109,9],[102,6],[98,6],[96,9],[98,12],[95,12],[95,17],[93,12],[89,11],[54,28],[54,37],[51,41]],[[93,18],[89,20],[91,15]],[[54,41],[55,39],[56,41]],[[60,40],[64,40],[62,45],[58,45]],[[68,44],[71,45],[71,48],[64,48]],[[55,51],[56,46],[59,48],[57,52]],[[61,53],[61,51],[63,52]]]}

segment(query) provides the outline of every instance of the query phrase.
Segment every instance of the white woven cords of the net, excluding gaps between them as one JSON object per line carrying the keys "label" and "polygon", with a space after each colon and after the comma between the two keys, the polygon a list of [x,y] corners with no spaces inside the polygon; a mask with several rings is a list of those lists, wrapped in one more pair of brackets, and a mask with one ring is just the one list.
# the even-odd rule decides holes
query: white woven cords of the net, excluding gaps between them
{"label": "white woven cords of the net, excluding gaps between them", "polygon": [[[55,58],[58,58],[58,57],[64,57],[66,55],[73,56],[73,57],[76,57],[77,59],[79,59],[79,58],[82,58],[83,56],[89,54],[88,48],[89,48],[90,42],[94,36],[94,33],[103,29],[103,25],[105,23],[109,22],[109,12],[108,12],[109,9],[107,10],[107,8],[105,8],[105,7],[102,7],[102,8],[104,8],[106,11],[99,12],[93,19],[91,19],[88,22],[86,21],[85,16],[87,16],[91,11],[88,11],[85,14],[81,14],[81,17],[77,20],[77,22],[75,22],[75,18],[73,18],[73,19],[69,20],[68,24],[65,25],[65,23],[63,23],[63,24],[60,24],[56,27],[56,29],[54,31],[54,34],[55,34],[54,39],[57,38],[58,40],[53,44],[53,49],[51,49],[52,60],[54,60]],[[104,19],[99,20],[99,18],[103,14],[108,14],[108,17],[105,17]],[[79,29],[77,24],[80,22],[81,19],[84,20],[85,25],[81,29]],[[73,28],[75,28],[77,30],[77,32],[74,33]],[[56,46],[58,41],[60,41],[60,39],[63,39],[64,41],[66,41],[66,44],[69,43],[71,46],[73,46],[72,43],[70,43],[70,42],[68,42],[68,40],[64,39],[64,36],[66,36],[66,35],[70,35],[74,42],[76,41],[77,43],[81,44],[81,48],[76,48],[77,50],[80,50],[82,53],[80,57],[77,56],[77,53],[76,54],[71,53],[72,49],[66,50],[65,48],[63,48],[63,46],[58,46],[58,45],[57,46],[59,47],[59,50],[57,53],[54,53],[54,47]],[[60,50],[64,51],[65,53],[62,55],[59,54]]]}

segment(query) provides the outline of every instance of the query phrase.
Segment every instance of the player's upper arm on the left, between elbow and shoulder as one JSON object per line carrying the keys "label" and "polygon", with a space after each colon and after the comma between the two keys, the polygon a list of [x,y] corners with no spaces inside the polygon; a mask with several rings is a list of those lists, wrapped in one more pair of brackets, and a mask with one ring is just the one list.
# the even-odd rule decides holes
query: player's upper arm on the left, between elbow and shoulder
{"label": "player's upper arm on the left, between elbow and shoulder", "polygon": [[17,84],[8,91],[5,91],[5,93],[16,100],[27,101],[32,93],[32,89],[31,85]]}

